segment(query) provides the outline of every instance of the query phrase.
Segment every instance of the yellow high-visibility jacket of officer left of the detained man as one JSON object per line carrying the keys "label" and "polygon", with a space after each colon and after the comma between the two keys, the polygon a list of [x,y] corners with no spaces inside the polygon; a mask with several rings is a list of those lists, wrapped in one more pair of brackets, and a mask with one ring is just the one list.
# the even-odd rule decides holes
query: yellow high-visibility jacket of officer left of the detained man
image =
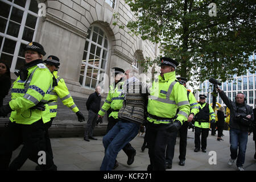
{"label": "yellow high-visibility jacket of officer left of the detained man", "polygon": [[104,116],[106,111],[113,109],[112,113],[109,114],[109,117],[113,117],[115,119],[118,118],[118,111],[114,110],[119,110],[123,107],[123,99],[124,99],[124,94],[122,94],[122,87],[123,87],[124,82],[118,82],[118,84],[114,88],[114,84],[109,86],[109,94],[104,102],[104,104],[101,107],[101,110],[98,111],[98,114],[101,116]]}

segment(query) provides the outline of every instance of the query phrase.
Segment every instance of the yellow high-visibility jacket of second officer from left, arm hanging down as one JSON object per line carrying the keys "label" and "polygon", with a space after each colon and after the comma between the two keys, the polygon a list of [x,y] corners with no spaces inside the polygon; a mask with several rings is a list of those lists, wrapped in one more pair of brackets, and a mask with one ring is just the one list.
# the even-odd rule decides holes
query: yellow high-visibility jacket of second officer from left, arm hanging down
{"label": "yellow high-visibility jacket of second officer from left, arm hanging down", "polygon": [[72,109],[74,113],[79,111],[78,107],[73,101],[71,94],[68,91],[65,81],[63,80],[63,78],[60,78],[59,75],[57,75],[57,73],[58,73],[57,71],[53,71],[52,73],[52,76],[56,78],[57,86],[52,87],[50,98],[49,98],[49,100],[52,101],[52,102],[49,102],[48,104],[51,118],[54,118],[57,115],[57,98],[58,97],[60,97],[60,100],[62,101],[62,103],[68,108]]}

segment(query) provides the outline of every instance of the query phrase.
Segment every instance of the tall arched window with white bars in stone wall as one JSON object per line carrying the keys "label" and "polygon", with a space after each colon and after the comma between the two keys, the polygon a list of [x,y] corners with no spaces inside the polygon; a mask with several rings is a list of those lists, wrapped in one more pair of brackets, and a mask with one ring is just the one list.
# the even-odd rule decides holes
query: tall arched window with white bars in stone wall
{"label": "tall arched window with white bars in stone wall", "polygon": [[94,89],[104,81],[109,43],[105,32],[97,26],[88,29],[86,38],[79,82],[85,88]]}

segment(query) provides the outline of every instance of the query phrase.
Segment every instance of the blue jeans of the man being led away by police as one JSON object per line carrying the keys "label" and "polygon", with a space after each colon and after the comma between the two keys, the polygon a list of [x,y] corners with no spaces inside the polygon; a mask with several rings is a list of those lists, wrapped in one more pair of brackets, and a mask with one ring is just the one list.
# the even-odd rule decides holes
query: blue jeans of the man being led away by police
{"label": "blue jeans of the man being led away by police", "polygon": [[139,133],[139,123],[118,121],[103,137],[105,156],[102,160],[101,171],[110,171],[115,164],[115,158],[122,148]]}

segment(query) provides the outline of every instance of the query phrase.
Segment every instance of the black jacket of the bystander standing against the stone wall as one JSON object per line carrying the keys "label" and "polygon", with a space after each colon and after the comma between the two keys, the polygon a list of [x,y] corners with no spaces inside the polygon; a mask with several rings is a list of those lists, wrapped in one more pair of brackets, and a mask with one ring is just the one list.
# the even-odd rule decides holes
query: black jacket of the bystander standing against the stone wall
{"label": "black jacket of the bystander standing against the stone wall", "polygon": [[86,101],[87,110],[92,110],[94,113],[98,113],[101,109],[101,96],[98,96],[97,92],[90,94]]}

